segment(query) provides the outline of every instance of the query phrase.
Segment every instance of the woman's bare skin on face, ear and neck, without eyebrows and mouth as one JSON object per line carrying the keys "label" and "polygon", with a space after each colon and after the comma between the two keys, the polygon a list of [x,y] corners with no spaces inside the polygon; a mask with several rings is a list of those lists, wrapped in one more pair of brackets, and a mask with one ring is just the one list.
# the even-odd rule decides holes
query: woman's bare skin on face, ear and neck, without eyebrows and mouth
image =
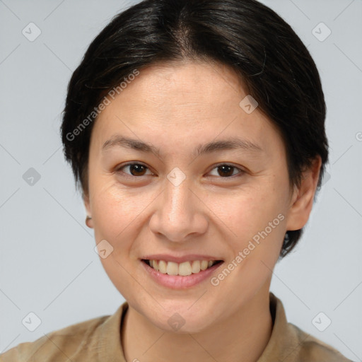
{"label": "woman's bare skin on face, ear and neck, without eyebrows and mouth", "polygon": [[[258,108],[247,114],[239,106],[246,95],[226,66],[158,64],[141,69],[95,122],[84,202],[96,243],[105,239],[113,247],[103,267],[129,303],[122,325],[127,361],[251,362],[267,346],[272,270],[286,230],[308,221],[321,162],[316,158],[300,187],[291,188],[284,142]],[[160,156],[119,146],[102,153],[114,134],[153,144]],[[263,151],[192,153],[235,135]],[[146,169],[132,176],[129,167],[121,169],[130,161]],[[233,176],[220,163],[234,165]],[[167,178],[175,167],[186,176],[178,186]],[[279,214],[284,220],[218,286],[206,279],[166,288],[141,265],[144,255],[196,253],[216,256],[225,267]],[[185,320],[176,332],[168,325],[174,313]]]}

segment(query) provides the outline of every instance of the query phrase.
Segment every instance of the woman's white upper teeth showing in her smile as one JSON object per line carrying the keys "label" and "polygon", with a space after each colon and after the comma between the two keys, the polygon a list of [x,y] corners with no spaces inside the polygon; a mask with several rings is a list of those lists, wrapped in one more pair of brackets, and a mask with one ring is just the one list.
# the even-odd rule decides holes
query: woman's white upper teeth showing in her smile
{"label": "woman's white upper teeth showing in her smile", "polygon": [[149,260],[150,266],[162,274],[187,276],[199,273],[216,263],[216,260],[192,260],[191,262],[165,262],[165,260]]}

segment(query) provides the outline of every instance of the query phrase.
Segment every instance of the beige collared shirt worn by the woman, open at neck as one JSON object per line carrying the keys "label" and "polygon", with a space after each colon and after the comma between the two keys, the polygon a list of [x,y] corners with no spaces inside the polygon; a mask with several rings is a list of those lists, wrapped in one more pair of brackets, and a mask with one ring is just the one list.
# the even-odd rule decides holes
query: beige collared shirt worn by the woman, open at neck
{"label": "beige collared shirt worn by the woman, open at neck", "polygon": [[[114,315],[86,320],[46,334],[36,341],[18,344],[1,354],[0,361],[126,362],[120,326],[127,308],[128,304],[124,302]],[[288,323],[281,300],[271,292],[270,311],[273,330],[257,362],[351,362],[332,346]]]}

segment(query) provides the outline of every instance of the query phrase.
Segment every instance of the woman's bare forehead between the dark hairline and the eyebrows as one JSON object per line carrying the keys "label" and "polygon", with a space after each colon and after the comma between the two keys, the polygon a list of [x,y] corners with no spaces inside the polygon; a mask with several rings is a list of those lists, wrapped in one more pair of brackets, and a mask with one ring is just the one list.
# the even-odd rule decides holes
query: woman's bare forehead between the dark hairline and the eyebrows
{"label": "woman's bare forehead between the dark hairline and the eyebrows", "polygon": [[257,108],[247,113],[240,107],[246,97],[242,81],[228,66],[155,64],[141,69],[115,96],[98,116],[92,133],[98,148],[115,133],[184,147],[230,136],[258,144],[267,136],[277,136],[274,125]]}

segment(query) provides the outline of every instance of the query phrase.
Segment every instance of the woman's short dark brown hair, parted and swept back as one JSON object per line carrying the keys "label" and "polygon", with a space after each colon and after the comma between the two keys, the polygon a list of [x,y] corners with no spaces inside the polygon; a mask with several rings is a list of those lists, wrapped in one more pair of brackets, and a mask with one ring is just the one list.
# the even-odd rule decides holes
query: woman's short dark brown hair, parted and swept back
{"label": "woman's short dark brown hair, parted and swept back", "polygon": [[[95,109],[105,95],[135,69],[188,60],[230,66],[279,129],[290,185],[300,185],[320,156],[320,188],[328,160],[325,98],[315,62],[291,26],[255,0],[144,0],[112,18],[69,81],[62,141],[83,195]],[[286,232],[280,257],[302,231]]]}

